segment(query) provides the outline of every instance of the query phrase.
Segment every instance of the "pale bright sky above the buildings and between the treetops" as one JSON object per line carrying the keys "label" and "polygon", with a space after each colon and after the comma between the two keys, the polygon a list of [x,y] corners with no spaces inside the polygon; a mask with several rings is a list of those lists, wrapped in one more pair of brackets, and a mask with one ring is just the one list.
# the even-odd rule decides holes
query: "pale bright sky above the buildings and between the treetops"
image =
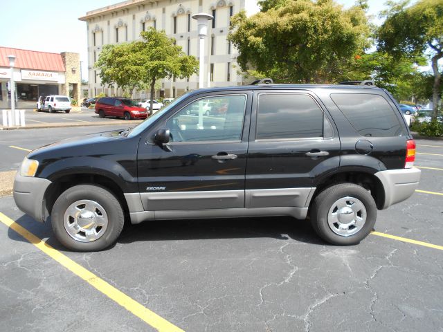
{"label": "pale bright sky above the buildings and between the treetops", "polygon": [[[51,53],[80,53],[82,77],[87,77],[87,28],[78,18],[119,0],[0,0],[0,46]],[[354,0],[336,0],[345,8]],[[369,0],[377,17],[385,0]],[[379,19],[375,20],[375,23]]]}

